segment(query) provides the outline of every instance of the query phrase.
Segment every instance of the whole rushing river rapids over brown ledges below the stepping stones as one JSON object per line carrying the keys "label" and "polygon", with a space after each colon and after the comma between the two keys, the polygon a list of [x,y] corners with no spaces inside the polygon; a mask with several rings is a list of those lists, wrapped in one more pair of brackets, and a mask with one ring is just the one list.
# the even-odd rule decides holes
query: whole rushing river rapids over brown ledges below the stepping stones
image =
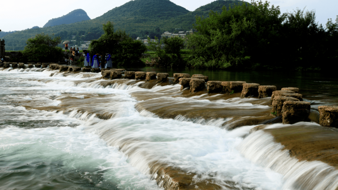
{"label": "whole rushing river rapids over brown ledges below the stepping stones", "polygon": [[338,131],[275,123],[269,97],[38,68],[0,79],[0,189],[338,189]]}

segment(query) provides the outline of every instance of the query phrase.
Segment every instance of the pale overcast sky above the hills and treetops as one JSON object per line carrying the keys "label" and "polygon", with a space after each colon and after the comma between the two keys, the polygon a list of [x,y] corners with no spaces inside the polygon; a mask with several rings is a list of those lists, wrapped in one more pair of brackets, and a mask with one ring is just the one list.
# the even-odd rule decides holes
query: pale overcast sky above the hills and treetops
{"label": "pale overcast sky above the hills and treetops", "polygon": [[[75,9],[83,9],[91,19],[130,0],[1,0],[0,29],[2,31],[24,30],[33,26],[43,27],[48,20],[67,15]],[[171,0],[190,11],[214,0]],[[247,0],[250,2],[250,0]],[[325,25],[328,18],[338,15],[338,0],[270,0],[270,5],[280,6],[281,12],[297,7],[316,11],[316,21]]]}

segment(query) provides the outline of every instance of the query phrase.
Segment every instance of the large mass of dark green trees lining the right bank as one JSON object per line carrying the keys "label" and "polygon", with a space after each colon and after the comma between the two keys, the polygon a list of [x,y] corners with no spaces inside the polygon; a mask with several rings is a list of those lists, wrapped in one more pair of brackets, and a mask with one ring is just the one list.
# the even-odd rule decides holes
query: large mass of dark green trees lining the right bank
{"label": "large mass of dark green trees lining the right bank", "polygon": [[318,70],[318,62],[337,55],[329,50],[337,49],[332,46],[337,37],[329,32],[334,29],[318,26],[313,11],[281,15],[267,1],[211,11],[208,18],[197,17],[195,28],[198,32],[187,40],[192,67]]}

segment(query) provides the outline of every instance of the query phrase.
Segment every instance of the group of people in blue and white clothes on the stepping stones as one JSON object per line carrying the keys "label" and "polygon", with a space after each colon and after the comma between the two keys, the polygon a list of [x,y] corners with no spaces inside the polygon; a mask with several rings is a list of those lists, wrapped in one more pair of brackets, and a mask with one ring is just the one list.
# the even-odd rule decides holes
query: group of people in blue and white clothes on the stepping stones
{"label": "group of people in blue and white clothes on the stepping stones", "polygon": [[92,68],[111,68],[113,67],[113,61],[111,54],[107,53],[105,56],[105,62],[104,65],[102,65],[102,56],[100,54],[95,54],[93,58],[90,58],[89,52],[87,50],[83,50],[83,56],[84,56],[84,66]]}

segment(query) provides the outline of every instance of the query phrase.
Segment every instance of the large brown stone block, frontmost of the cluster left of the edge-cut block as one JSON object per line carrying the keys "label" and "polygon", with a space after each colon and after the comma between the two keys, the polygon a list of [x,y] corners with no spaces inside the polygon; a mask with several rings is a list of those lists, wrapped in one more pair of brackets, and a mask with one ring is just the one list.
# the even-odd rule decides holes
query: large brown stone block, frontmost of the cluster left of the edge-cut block
{"label": "large brown stone block, frontmost of the cluster left of the edge-cut block", "polygon": [[311,104],[304,101],[286,101],[283,103],[283,124],[294,124],[299,121],[310,121]]}

